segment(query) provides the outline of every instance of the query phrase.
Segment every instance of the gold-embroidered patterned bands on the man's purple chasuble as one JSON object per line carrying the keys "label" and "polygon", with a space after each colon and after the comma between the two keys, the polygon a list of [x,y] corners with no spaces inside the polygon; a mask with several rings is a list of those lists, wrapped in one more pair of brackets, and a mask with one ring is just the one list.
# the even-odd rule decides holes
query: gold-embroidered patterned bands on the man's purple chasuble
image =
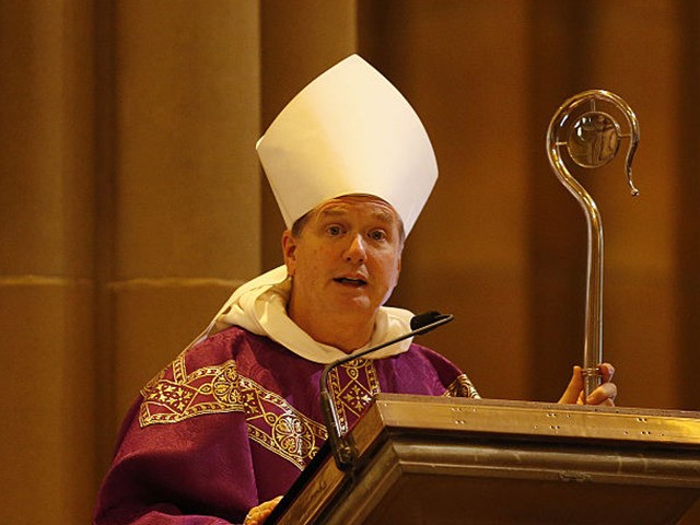
{"label": "gold-embroidered patterned bands on the man's purple chasuble", "polygon": [[[141,390],[141,428],[176,423],[205,413],[241,412],[252,441],[300,470],[326,441],[325,425],[296,410],[282,396],[240,375],[234,360],[187,373],[185,357],[183,352]],[[381,392],[374,362],[364,359],[334,369],[328,374],[328,387],[343,433]],[[444,396],[478,398],[479,394],[462,374]]]}

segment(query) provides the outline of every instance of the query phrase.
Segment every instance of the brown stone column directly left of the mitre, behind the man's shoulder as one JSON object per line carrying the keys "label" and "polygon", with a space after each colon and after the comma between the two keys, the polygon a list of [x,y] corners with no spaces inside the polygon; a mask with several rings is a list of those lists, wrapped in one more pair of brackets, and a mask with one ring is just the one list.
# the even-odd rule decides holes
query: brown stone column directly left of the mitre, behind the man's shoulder
{"label": "brown stone column directly left of the mitre, behind the man's shoulder", "polygon": [[115,4],[103,370],[116,420],[260,270],[258,33],[253,1]]}

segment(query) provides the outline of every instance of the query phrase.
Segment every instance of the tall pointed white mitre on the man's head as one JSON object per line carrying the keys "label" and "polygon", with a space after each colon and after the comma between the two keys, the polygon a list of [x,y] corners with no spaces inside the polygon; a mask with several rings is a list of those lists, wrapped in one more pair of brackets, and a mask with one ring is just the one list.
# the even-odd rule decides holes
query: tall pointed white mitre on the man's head
{"label": "tall pointed white mitre on the man's head", "polygon": [[418,115],[358,55],[304,88],[257,151],[288,228],[328,199],[366,194],[392,205],[408,235],[438,179]]}

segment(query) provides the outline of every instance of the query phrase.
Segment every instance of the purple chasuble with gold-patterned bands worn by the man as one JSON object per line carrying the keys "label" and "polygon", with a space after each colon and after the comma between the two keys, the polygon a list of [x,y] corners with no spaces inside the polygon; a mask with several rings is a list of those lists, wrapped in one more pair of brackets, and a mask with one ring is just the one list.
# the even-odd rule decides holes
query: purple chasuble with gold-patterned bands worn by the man
{"label": "purple chasuble with gold-patterned bands worn by the man", "polygon": [[[223,525],[283,494],[326,440],[323,364],[232,327],[183,352],[141,390],[121,427],[94,524]],[[380,393],[478,396],[419,345],[329,375],[342,431]]]}

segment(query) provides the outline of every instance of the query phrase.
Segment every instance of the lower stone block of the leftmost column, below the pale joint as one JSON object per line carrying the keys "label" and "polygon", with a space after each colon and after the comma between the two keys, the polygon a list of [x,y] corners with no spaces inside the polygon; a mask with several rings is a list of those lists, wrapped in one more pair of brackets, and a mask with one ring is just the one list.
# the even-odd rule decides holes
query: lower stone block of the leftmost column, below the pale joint
{"label": "lower stone block of the leftmost column, below the pale joint", "polygon": [[0,280],[0,518],[88,523],[95,485],[96,362],[90,283]]}

